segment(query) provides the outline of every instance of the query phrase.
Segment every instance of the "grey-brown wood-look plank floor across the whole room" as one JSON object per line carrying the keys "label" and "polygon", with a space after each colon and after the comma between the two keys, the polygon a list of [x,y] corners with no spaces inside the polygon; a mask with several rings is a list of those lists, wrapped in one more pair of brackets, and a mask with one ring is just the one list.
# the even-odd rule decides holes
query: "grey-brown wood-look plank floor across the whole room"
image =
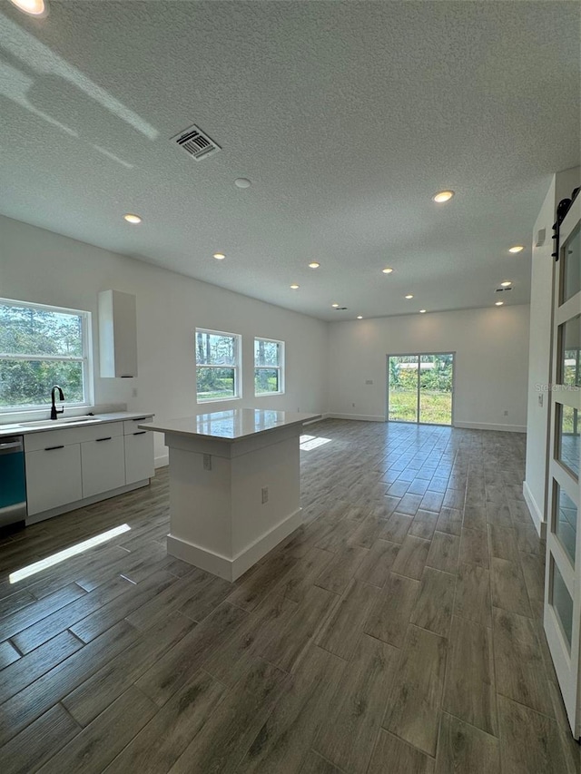
{"label": "grey-brown wood-look plank floor across the whole room", "polygon": [[578,772],[525,436],[309,434],[328,442],[301,453],[305,524],[237,583],[166,555],[166,469],[0,543],[3,774]]}

